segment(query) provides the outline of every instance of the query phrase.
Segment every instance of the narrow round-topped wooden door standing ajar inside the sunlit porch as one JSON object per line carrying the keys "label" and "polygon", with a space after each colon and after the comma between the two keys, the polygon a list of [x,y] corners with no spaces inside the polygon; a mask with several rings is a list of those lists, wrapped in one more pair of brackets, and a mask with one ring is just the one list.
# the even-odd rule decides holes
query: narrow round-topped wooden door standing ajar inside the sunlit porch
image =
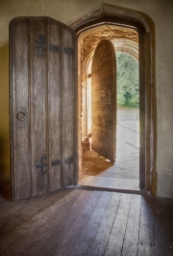
{"label": "narrow round-topped wooden door standing ajar inside the sunlit porch", "polygon": [[92,60],[91,148],[100,156],[115,161],[116,146],[116,69],[110,41],[98,43]]}

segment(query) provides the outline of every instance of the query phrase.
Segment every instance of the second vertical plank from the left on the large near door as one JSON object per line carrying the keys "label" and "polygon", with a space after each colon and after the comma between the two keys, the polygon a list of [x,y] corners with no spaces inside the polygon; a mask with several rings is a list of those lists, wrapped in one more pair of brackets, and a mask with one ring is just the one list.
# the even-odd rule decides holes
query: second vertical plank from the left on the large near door
{"label": "second vertical plank from the left on the large near door", "polygon": [[[33,43],[37,43],[40,35],[45,39],[42,43],[46,44],[46,21],[34,20],[33,21]],[[33,44],[32,43],[32,44]],[[45,51],[45,49],[44,49]],[[47,191],[47,175],[41,173],[40,168],[37,168],[37,164],[40,163],[40,157],[45,156],[44,161],[47,162],[47,81],[46,81],[46,58],[47,54],[41,55],[37,47],[34,47],[33,56],[33,111],[31,113],[32,119],[32,192],[33,195],[45,193]],[[20,158],[18,159],[20,160]],[[46,171],[46,167],[44,171]]]}

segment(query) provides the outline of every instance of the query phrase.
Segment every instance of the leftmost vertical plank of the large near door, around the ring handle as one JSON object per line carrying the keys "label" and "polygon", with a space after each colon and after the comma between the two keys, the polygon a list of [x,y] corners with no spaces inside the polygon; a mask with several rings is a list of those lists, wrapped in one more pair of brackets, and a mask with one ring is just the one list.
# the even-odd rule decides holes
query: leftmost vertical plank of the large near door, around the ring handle
{"label": "leftmost vertical plank of the large near door, around the ring handle", "polygon": [[[29,115],[24,121],[16,119],[17,110],[29,106],[28,82],[28,22],[16,23],[12,28],[12,129],[13,132],[13,185],[16,199],[29,197]],[[23,86],[24,85],[24,86]],[[20,161],[18,161],[18,157]]]}

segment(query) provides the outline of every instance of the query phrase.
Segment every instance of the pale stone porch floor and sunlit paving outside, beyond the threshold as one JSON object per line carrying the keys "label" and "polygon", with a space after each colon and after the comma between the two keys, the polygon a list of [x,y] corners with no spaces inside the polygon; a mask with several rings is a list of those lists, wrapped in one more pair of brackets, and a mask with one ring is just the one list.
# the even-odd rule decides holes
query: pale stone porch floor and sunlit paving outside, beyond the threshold
{"label": "pale stone porch floor and sunlit paving outside, beyond the threshold", "polygon": [[116,161],[93,151],[83,153],[83,176],[79,185],[139,189],[138,121],[119,120],[117,124]]}

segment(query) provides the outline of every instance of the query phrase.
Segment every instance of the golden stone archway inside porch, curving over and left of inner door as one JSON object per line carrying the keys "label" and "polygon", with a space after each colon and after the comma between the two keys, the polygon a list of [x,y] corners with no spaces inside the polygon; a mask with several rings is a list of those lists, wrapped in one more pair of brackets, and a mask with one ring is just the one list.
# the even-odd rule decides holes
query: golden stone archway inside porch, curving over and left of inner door
{"label": "golden stone archway inside porch, curving over and left of inner door", "polygon": [[102,40],[110,40],[114,46],[114,52],[124,52],[132,56],[138,62],[138,34],[135,29],[115,26],[99,25],[82,32],[78,39],[78,44],[82,43],[82,80],[83,80],[83,111],[82,111],[82,138],[86,137],[90,131],[88,124],[89,109],[87,102],[87,87],[91,80],[91,63],[94,50]]}

